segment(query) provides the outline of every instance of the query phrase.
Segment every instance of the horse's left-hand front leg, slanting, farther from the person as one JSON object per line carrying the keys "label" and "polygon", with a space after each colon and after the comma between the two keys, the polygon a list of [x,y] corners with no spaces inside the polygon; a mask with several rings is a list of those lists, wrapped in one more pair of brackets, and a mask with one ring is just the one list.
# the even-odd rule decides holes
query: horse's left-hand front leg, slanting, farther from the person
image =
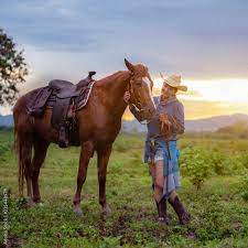
{"label": "horse's left-hand front leg, slanting, farther from the person", "polygon": [[82,144],[79,166],[78,166],[78,173],[77,173],[77,188],[76,188],[76,193],[73,201],[74,213],[77,215],[83,214],[80,209],[80,192],[82,192],[84,182],[86,180],[88,163],[89,163],[90,157],[93,155],[93,152],[94,152],[93,142],[87,141]]}

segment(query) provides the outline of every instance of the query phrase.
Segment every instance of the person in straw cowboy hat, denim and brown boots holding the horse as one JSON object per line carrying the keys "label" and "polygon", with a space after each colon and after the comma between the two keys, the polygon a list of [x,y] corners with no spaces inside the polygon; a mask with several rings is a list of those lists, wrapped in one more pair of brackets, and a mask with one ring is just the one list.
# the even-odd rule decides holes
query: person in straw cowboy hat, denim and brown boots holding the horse
{"label": "person in straw cowboy hat, denim and brown boots holding the horse", "polygon": [[[158,207],[159,220],[170,223],[166,215],[166,201],[179,216],[180,224],[187,224],[190,214],[180,202],[176,188],[180,187],[177,134],[184,132],[184,108],[177,100],[177,90],[186,91],[181,85],[181,76],[172,75],[164,79],[160,97],[154,97],[158,116],[148,123],[144,162],[149,164],[154,184],[154,200]],[[130,94],[123,99],[128,101]],[[130,106],[131,112],[139,112]],[[139,118],[138,118],[139,119]],[[142,119],[140,119],[142,120]]]}

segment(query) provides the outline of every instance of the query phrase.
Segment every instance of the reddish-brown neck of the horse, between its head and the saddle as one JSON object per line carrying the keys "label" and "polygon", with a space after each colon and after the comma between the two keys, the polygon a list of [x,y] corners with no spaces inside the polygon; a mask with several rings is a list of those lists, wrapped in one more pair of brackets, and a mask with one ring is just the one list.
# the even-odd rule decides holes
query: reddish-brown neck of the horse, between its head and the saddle
{"label": "reddish-brown neck of the horse, between its head and the saddle", "polygon": [[128,89],[130,82],[130,72],[122,71],[115,73],[104,79],[97,82],[97,86],[101,88],[101,97],[107,108],[116,117],[122,117],[127,104],[123,101],[125,91]]}

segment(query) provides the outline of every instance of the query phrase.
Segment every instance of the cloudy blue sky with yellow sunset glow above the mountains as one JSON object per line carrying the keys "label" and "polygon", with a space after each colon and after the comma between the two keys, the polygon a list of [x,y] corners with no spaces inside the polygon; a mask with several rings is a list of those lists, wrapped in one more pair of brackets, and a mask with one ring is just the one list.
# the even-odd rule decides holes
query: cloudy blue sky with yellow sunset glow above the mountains
{"label": "cloudy blue sky with yellow sunset glow above the mountains", "polygon": [[[54,78],[78,82],[145,64],[160,93],[177,74],[186,119],[248,115],[246,0],[1,0],[0,26],[24,50],[30,75],[20,95]],[[9,114],[0,107],[0,114]]]}

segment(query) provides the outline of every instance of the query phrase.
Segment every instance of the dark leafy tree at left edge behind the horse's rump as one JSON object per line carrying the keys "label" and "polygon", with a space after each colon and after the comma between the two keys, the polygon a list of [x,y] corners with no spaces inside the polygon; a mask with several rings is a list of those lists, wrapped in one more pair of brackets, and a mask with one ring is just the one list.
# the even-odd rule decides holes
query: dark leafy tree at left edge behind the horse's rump
{"label": "dark leafy tree at left edge behind the horse's rump", "polygon": [[18,51],[17,44],[0,29],[0,105],[13,104],[19,91],[17,84],[25,82],[28,73],[23,51]]}

